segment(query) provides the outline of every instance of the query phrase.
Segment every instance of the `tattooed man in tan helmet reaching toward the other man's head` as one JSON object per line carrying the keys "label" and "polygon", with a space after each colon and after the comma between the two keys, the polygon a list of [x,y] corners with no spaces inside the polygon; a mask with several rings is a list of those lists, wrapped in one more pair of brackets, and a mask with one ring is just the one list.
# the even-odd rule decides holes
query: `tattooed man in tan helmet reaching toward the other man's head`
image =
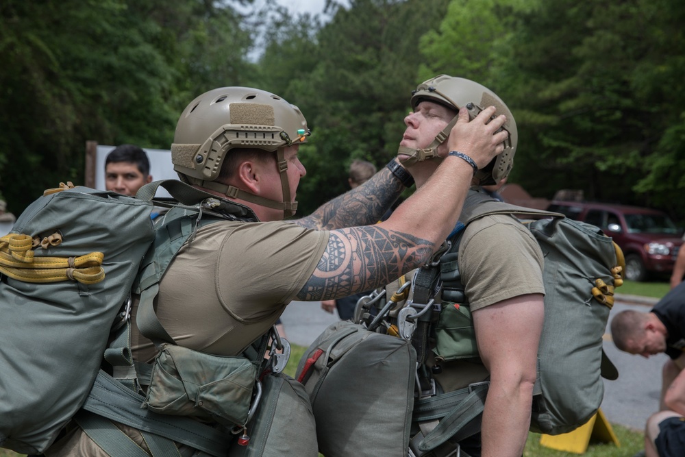
{"label": "tattooed man in tan helmet reaching toward the other man's head", "polygon": [[[490,121],[493,114],[495,108],[485,108],[469,122],[464,112],[450,148],[479,166],[490,163],[507,138],[496,133],[506,119]],[[201,227],[162,277],[156,312],[179,345],[238,356],[290,301],[318,303],[388,284],[423,264],[456,223],[473,173],[466,161],[446,154],[431,183],[387,221],[376,224],[413,183],[397,160],[310,216],[284,221],[297,209],[297,186],[306,175],[298,152],[309,136],[299,109],[264,90],[210,90],[182,112],[171,146],[175,170],[251,220]],[[426,226],[429,218],[436,223]],[[157,354],[136,329],[132,349],[140,362]],[[136,430],[126,433],[142,441]],[[69,449],[103,455],[83,446],[82,432],[66,441],[62,454],[51,455],[69,455]]]}

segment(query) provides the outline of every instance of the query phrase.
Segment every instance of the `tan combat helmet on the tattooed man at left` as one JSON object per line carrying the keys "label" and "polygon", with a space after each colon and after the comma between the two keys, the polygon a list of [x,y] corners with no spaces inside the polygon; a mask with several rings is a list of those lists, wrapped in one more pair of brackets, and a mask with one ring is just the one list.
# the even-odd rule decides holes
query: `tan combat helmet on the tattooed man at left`
{"label": "tan combat helmet on the tattooed man at left", "polygon": [[[182,112],[171,145],[171,162],[182,181],[283,210],[284,217],[289,217],[295,214],[297,201],[290,201],[288,163],[283,150],[286,146],[306,143],[309,135],[307,121],[300,110],[281,97],[265,90],[223,87],[203,93]],[[226,153],[234,148],[276,153],[283,201],[216,182]]]}

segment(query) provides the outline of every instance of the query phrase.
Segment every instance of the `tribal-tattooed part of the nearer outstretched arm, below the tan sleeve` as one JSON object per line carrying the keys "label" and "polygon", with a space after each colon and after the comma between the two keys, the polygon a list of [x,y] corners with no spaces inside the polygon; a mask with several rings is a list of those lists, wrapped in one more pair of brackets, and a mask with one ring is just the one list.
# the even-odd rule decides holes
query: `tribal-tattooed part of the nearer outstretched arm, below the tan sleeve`
{"label": "tribal-tattooed part of the nearer outstretched arm, below the tan sleeve", "polygon": [[427,240],[377,225],[335,230],[297,299],[340,298],[386,286],[420,267],[433,249]]}

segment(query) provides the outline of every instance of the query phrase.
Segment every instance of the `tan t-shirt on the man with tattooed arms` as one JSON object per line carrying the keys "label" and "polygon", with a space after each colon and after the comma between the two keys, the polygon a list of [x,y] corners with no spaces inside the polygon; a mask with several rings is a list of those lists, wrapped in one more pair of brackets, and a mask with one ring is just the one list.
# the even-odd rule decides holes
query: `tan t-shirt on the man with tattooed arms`
{"label": "tan t-shirt on the man with tattooed arms", "polygon": [[[220,356],[240,354],[299,293],[328,236],[285,221],[202,227],[160,282],[155,301],[160,322],[179,345]],[[137,329],[132,348],[140,361],[157,353]]]}

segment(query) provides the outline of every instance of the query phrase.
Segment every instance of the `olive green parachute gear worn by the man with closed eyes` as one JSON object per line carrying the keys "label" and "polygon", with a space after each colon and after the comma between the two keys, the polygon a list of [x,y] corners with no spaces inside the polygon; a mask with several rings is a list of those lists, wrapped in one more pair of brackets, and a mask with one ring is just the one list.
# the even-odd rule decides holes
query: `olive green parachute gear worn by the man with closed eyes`
{"label": "olive green parachute gear worn by the man with closed eyes", "polygon": [[[618,376],[603,353],[602,336],[614,303],[614,287],[623,282],[621,249],[593,225],[471,191],[460,215],[462,230],[443,245],[434,262],[417,270],[395,293],[379,290],[360,299],[356,323],[330,326],[303,355],[297,376],[310,394],[320,450],[327,457],[361,455],[359,443],[366,444],[366,455],[443,456],[456,452],[456,442],[479,432],[487,380],[444,392],[434,382],[427,362],[429,352],[447,363],[479,360],[458,271],[458,247],[463,227],[488,214],[535,218],[523,223],[545,256],[545,321],[530,430],[570,432],[599,409],[601,378]],[[356,332],[350,332],[351,328]],[[352,351],[360,339],[377,344]],[[397,342],[393,345],[387,340]],[[398,362],[403,352],[409,354]],[[393,367],[393,360],[408,365]],[[411,395],[406,404],[398,404],[398,398],[407,397],[403,388]],[[340,398],[345,399],[345,407]],[[393,415],[396,420],[387,425]],[[378,437],[383,445],[369,447]]]}

